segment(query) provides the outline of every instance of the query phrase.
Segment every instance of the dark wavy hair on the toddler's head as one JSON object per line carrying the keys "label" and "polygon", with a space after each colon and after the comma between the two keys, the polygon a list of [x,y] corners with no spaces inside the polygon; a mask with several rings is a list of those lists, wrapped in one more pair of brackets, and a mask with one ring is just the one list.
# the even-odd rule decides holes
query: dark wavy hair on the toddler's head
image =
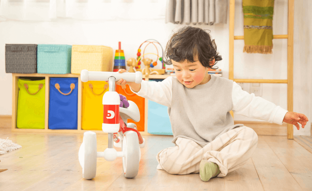
{"label": "dark wavy hair on the toddler's head", "polygon": [[[209,31],[210,32],[210,31]],[[170,59],[175,62],[199,62],[206,68],[213,68],[217,61],[222,57],[217,53],[217,45],[211,40],[209,33],[201,28],[185,26],[174,33],[168,41],[165,49],[163,63],[171,65]],[[210,66],[209,63],[215,58],[215,63]]]}

